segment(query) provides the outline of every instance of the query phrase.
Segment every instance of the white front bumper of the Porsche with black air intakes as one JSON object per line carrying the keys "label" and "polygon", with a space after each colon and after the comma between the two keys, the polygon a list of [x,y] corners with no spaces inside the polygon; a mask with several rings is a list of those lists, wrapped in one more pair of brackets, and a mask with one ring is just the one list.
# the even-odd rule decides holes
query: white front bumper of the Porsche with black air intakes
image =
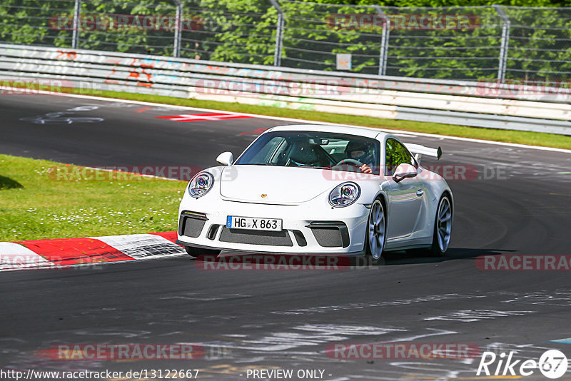
{"label": "white front bumper of the Porsche with black air intakes", "polygon": [[[368,205],[332,208],[327,201],[299,205],[243,203],[220,198],[183,198],[178,244],[256,253],[358,255],[365,247]],[[226,228],[228,215],[280,218],[281,232]]]}

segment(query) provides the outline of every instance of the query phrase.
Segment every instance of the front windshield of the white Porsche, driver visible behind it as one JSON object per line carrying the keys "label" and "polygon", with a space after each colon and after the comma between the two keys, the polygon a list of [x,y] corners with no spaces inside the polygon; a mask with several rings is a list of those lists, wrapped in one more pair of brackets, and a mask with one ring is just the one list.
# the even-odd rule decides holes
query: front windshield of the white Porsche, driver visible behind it
{"label": "front windshield of the white Porsche, driver visible behind it", "polygon": [[[345,161],[345,162],[343,162]],[[380,143],[372,138],[313,131],[264,133],[236,164],[359,171],[366,164],[379,174]]]}

